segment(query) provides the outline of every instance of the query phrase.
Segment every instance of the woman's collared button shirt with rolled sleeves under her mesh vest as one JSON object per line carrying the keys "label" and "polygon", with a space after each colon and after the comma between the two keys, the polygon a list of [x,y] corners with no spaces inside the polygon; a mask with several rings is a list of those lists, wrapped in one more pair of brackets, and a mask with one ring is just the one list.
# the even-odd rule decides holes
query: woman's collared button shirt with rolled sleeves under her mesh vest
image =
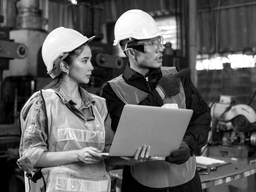
{"label": "woman's collared button shirt with rolled sleeves under her mesh vest", "polygon": [[[79,109],[75,108],[77,104],[73,101],[66,92],[61,89],[54,89],[58,94],[63,103],[76,115],[85,119],[87,117],[93,116],[91,105],[95,104],[93,97],[85,90],[79,86],[79,92],[82,96],[82,104]],[[22,137],[20,141],[19,154],[20,158],[18,159],[17,164],[19,167],[31,173],[36,171],[37,168],[34,168],[35,163],[41,157],[41,155],[47,150],[47,133],[46,133],[46,116],[43,108],[43,101],[40,92],[31,98],[29,104],[24,109],[22,114],[24,119],[24,128],[22,132]],[[106,117],[105,123],[105,147],[103,152],[108,153],[114,138],[114,132],[111,129],[111,119],[108,114]],[[106,170],[109,171],[113,168],[112,165],[106,165]]]}

